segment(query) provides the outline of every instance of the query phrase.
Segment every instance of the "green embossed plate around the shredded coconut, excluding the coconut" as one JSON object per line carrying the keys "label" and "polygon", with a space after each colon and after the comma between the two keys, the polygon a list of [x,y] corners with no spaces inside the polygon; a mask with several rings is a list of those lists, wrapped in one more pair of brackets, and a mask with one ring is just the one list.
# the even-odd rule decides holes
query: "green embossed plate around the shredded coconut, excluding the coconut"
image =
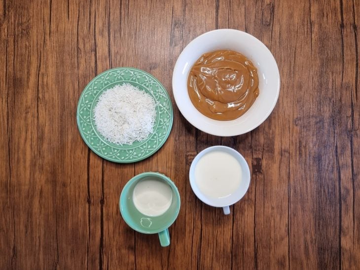
{"label": "green embossed plate around the shredded coconut, excluding the coconut", "polygon": [[[94,122],[94,108],[101,94],[123,83],[138,87],[157,101],[154,133],[131,145],[108,142],[99,134]],[[152,75],[137,68],[112,68],[96,76],[82,91],[76,118],[83,140],[94,153],[109,161],[132,163],[148,158],[160,149],[170,135],[174,113],[168,92]]]}

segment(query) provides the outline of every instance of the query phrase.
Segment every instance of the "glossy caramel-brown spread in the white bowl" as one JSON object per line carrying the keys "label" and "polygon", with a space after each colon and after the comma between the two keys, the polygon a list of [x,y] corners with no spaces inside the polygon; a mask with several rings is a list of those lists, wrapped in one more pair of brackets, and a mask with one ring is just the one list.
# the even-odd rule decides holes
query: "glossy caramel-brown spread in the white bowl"
{"label": "glossy caramel-brown spread in the white bowl", "polygon": [[194,106],[216,120],[243,115],[259,95],[257,70],[244,55],[230,50],[203,54],[190,70],[187,90]]}

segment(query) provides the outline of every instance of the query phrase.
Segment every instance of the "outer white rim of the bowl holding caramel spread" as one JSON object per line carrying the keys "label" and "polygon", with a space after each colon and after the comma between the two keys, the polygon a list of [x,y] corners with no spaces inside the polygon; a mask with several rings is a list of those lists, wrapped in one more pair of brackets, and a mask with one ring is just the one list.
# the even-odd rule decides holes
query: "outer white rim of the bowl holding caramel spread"
{"label": "outer white rim of the bowl holding caramel spread", "polygon": [[[221,128],[219,129],[213,129],[213,130],[210,130],[208,127],[204,127],[203,125],[199,125],[198,123],[196,123],[195,121],[193,121],[193,119],[191,117],[189,117],[189,115],[187,115],[185,109],[181,106],[179,106],[178,102],[180,102],[180,93],[179,91],[176,91],[175,89],[177,89],[177,85],[175,83],[175,78],[177,76],[177,74],[179,72],[181,72],[181,68],[180,67],[180,59],[181,57],[183,57],[183,55],[187,52],[187,50],[189,50],[189,48],[191,48],[191,46],[196,42],[196,40],[206,36],[206,35],[210,35],[210,34],[213,34],[214,32],[233,32],[233,33],[237,33],[237,34],[242,34],[242,35],[245,35],[245,36],[248,36],[249,38],[253,39],[255,42],[257,42],[264,50],[264,52],[266,52],[268,54],[268,56],[270,57],[271,61],[273,61],[273,63],[275,63],[275,66],[276,66],[276,79],[277,79],[277,89],[276,91],[274,91],[274,98],[273,98],[273,103],[271,104],[271,107],[269,107],[269,109],[267,110],[267,112],[264,114],[264,116],[259,120],[259,121],[256,121],[255,124],[253,124],[250,128],[244,130],[244,131],[241,131],[239,132],[238,130],[233,130],[232,132],[229,132],[227,131],[226,133],[224,133],[222,131]],[[190,63],[189,63],[190,64]],[[206,32],[206,33],[203,33],[197,37],[195,37],[194,39],[192,39],[184,48],[183,50],[181,51],[176,63],[175,63],[175,66],[174,66],[174,70],[173,70],[173,77],[172,77],[172,90],[173,90],[173,95],[174,95],[174,100],[175,100],[175,103],[177,104],[177,107],[179,108],[182,116],[192,125],[194,126],[195,128],[207,133],[207,134],[211,134],[211,135],[216,135],[216,136],[237,136],[237,135],[242,135],[242,134],[246,134],[252,130],[254,130],[255,128],[257,128],[258,126],[260,126],[268,117],[269,115],[271,114],[271,112],[274,110],[276,104],[277,104],[277,101],[279,99],[279,95],[280,95],[280,85],[281,85],[281,80],[280,80],[280,72],[279,72],[279,66],[273,56],[273,54],[271,53],[271,51],[268,49],[268,47],[266,47],[266,45],[264,43],[262,43],[258,38],[256,38],[255,36],[253,36],[252,34],[249,34],[249,33],[246,33],[244,31],[241,31],[241,30],[237,30],[237,29],[216,29],[216,30],[212,30],[212,31],[209,31],[209,32]],[[276,93],[275,93],[276,92]],[[187,91],[186,91],[186,94],[188,95]],[[190,101],[191,102],[191,101]],[[193,104],[191,103],[191,105],[193,106]],[[196,111],[201,114],[197,109]],[[206,117],[206,116],[205,116]],[[239,118],[241,118],[242,116],[240,116]],[[211,119],[209,117],[207,117],[208,119],[210,119],[214,125],[216,126],[216,122],[223,122],[223,121],[219,121],[219,120],[214,120],[214,119]],[[239,118],[237,119],[234,119],[234,120],[230,120],[230,121],[236,121],[238,120]],[[229,122],[230,122],[229,121]]]}

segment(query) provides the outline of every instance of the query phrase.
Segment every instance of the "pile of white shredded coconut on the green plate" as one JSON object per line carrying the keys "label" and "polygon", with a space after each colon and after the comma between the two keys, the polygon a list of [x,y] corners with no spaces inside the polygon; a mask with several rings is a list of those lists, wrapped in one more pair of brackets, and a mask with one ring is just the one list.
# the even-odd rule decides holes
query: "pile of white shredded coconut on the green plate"
{"label": "pile of white shredded coconut on the green plate", "polygon": [[156,102],[139,88],[124,83],[105,91],[96,104],[95,125],[109,142],[142,141],[153,132]]}

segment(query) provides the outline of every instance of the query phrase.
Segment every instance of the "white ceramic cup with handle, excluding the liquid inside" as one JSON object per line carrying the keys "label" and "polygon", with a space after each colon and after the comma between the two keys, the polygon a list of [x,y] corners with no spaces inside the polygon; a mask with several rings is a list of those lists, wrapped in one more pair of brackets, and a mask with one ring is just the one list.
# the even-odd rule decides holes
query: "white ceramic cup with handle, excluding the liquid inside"
{"label": "white ceramic cup with handle, excluding the liquid inside", "polygon": [[[213,151],[222,151],[225,153],[230,154],[233,156],[238,162],[241,167],[241,181],[238,188],[229,196],[223,197],[223,198],[213,198],[205,195],[198,187],[196,183],[195,178],[195,168],[199,162],[199,160],[206,154],[213,152]],[[235,202],[238,202],[241,198],[244,197],[246,192],[248,191],[249,185],[250,185],[250,169],[249,165],[244,159],[244,157],[233,148],[227,147],[227,146],[212,146],[209,148],[204,149],[201,151],[197,156],[194,158],[193,162],[190,166],[189,171],[189,180],[190,185],[195,193],[196,197],[198,197],[202,202],[205,202],[208,205],[215,206],[215,207],[222,207],[224,214],[227,215],[230,213],[229,206],[234,204]]]}

